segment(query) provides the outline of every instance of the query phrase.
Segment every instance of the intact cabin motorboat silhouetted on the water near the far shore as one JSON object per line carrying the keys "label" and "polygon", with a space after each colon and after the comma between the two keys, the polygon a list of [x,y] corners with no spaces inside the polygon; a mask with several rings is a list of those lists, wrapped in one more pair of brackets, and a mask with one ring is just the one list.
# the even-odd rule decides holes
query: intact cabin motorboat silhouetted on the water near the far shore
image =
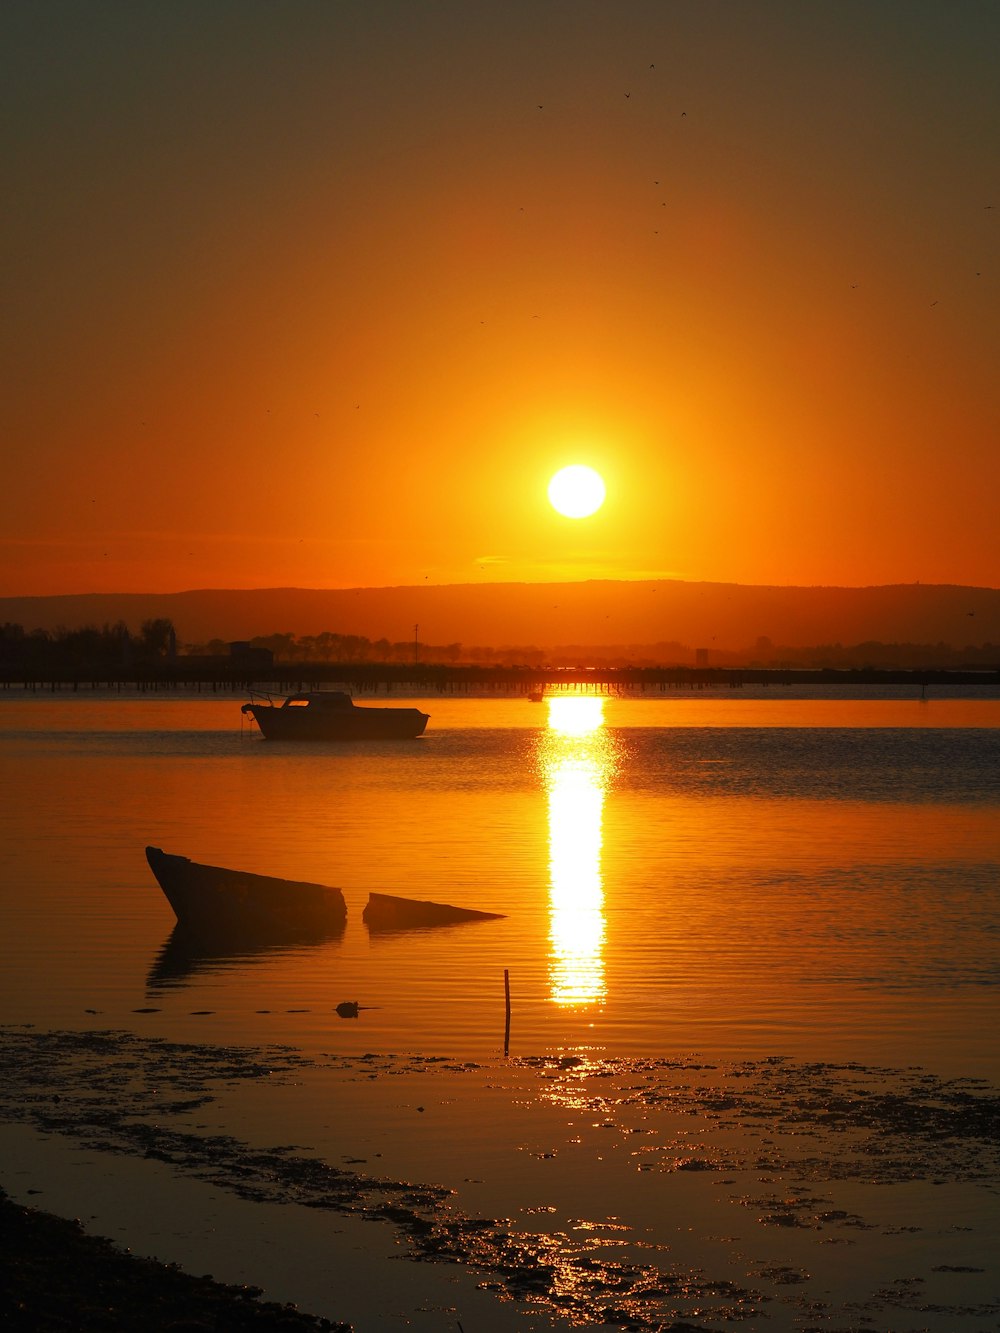
{"label": "intact cabin motorboat silhouetted on the water near the far shore", "polygon": [[340,689],[311,689],[244,704],[268,741],[407,741],[424,734],[429,713],[419,708],[359,708]]}

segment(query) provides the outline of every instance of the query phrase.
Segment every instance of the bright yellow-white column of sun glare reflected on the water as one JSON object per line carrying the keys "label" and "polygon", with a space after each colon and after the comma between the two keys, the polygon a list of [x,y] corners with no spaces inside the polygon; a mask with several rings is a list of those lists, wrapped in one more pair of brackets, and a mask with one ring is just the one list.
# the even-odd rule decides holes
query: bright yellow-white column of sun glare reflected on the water
{"label": "bright yellow-white column of sun glare reflected on the water", "polygon": [[555,696],[540,762],[548,796],[549,996],[559,1005],[604,1000],[601,816],[615,768],[604,700]]}

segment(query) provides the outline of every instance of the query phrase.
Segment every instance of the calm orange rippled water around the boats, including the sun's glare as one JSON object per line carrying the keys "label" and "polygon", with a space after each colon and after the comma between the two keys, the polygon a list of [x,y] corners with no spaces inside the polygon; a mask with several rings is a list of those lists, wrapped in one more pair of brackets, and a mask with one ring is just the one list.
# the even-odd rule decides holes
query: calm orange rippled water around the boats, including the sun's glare
{"label": "calm orange rippled water around the boats, including the sun's glare", "polygon": [[[449,697],[339,746],[240,702],[0,698],[5,1021],[484,1056],[508,969],[512,1054],[997,1074],[997,698]],[[347,929],[180,953],[147,844],[340,885]],[[373,890],[505,918],[376,936]]]}

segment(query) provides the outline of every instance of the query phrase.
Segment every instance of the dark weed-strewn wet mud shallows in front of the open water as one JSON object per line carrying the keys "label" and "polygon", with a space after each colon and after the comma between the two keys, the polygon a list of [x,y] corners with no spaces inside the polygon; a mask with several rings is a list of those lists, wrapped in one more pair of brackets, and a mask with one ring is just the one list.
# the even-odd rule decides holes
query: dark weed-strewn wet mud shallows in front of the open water
{"label": "dark weed-strewn wet mud shallows in front of the open water", "polygon": [[[451,1177],[408,1178],[409,1145],[396,1138],[396,1169],[372,1174],[360,1160],[335,1165],[308,1136],[209,1132],[209,1108],[264,1085],[295,1097],[309,1078],[369,1089],[372,1106],[408,1078],[437,1089],[428,1110],[444,1118],[455,1104]],[[509,1144],[491,1158],[505,1212],[477,1206],[503,1190],[471,1182],[463,1085],[467,1100],[488,1092],[511,1109],[495,1130]],[[425,1122],[424,1109],[413,1118]],[[1000,1314],[984,1224],[1000,1194],[1000,1094],[981,1080],[784,1058],[312,1058],[5,1028],[0,1120],[252,1202],[380,1224],[399,1258],[459,1265],[499,1302],[555,1321],[545,1326],[963,1333]]]}

